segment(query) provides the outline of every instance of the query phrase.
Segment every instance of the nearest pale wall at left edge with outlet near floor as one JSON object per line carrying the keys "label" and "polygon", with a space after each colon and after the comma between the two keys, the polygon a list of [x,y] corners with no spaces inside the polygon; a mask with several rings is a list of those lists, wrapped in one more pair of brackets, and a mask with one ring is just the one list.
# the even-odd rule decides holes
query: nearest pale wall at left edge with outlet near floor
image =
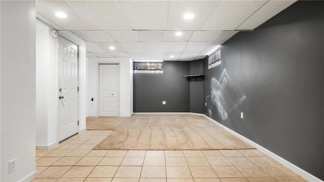
{"label": "nearest pale wall at left edge with outlet near floor", "polygon": [[[1,181],[35,170],[35,2],[1,3]],[[4,36],[6,35],[6,36]],[[16,159],[9,174],[8,162]]]}

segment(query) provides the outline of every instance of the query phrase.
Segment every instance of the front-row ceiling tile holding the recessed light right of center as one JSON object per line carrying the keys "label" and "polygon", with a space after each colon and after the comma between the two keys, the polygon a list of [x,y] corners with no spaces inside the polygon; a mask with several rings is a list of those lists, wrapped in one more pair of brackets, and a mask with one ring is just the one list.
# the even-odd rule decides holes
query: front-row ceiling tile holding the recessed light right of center
{"label": "front-row ceiling tile holding the recessed light right of center", "polygon": [[[170,1],[167,30],[200,30],[218,1]],[[193,18],[183,16],[192,13]]]}

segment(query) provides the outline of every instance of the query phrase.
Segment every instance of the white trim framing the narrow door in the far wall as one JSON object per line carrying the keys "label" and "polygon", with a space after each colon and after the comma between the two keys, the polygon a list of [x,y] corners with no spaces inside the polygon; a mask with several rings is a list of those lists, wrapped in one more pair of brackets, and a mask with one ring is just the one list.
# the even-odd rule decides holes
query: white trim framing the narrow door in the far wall
{"label": "white trim framing the narrow door in the far wall", "polygon": [[121,107],[120,107],[120,105],[121,105],[121,103],[120,103],[120,61],[116,61],[116,62],[114,62],[114,61],[111,61],[111,62],[105,62],[105,61],[98,61],[97,62],[97,64],[96,64],[96,72],[97,72],[97,93],[96,93],[96,95],[97,95],[97,116],[96,117],[99,117],[99,65],[101,65],[101,64],[106,64],[106,65],[119,65],[119,80],[118,80],[118,87],[119,87],[119,90],[118,90],[118,92],[119,92],[119,94],[118,94],[118,102],[119,102],[119,109],[118,109],[118,117],[120,117],[120,109],[121,109]]}

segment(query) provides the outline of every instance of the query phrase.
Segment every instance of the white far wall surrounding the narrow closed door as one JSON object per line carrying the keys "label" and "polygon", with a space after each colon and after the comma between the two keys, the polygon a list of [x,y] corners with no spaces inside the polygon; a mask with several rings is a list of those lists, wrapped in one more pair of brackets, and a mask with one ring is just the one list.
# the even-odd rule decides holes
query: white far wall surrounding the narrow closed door
{"label": "white far wall surrounding the narrow closed door", "polygon": [[[130,58],[88,58],[87,116],[98,117],[99,64],[118,63],[120,68],[119,116],[133,115],[133,60]],[[91,101],[94,98],[94,101]]]}

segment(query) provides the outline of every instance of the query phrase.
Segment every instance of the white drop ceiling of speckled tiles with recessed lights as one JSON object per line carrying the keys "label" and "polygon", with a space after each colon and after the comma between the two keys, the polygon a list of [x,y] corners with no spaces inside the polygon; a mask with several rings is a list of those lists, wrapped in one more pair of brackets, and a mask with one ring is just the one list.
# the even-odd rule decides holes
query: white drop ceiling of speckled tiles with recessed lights
{"label": "white drop ceiling of speckled tiles with recessed lights", "polygon": [[[257,3],[257,0],[254,1],[250,1],[251,3],[242,3],[242,1],[222,1],[219,0],[217,1],[217,3],[213,3],[213,2],[209,2],[209,1],[172,1],[172,0],[156,0],[156,1],[139,1],[138,3],[135,1],[123,1],[123,0],[118,0],[118,1],[112,1],[115,3],[100,3],[100,1],[98,2],[99,4],[96,4],[95,1],[91,2],[88,1],[90,3],[77,3],[71,0],[65,0],[65,1],[47,1],[47,0],[40,0],[40,1],[36,1],[36,18],[39,19],[40,21],[48,24],[49,26],[53,27],[54,29],[58,29],[58,30],[69,30],[72,31],[73,33],[75,33],[77,36],[82,36],[80,38],[83,39],[87,39],[87,43],[89,42],[90,44],[92,44],[88,50],[87,49],[87,55],[89,55],[90,57],[94,57],[96,55],[96,57],[104,57],[105,55],[107,57],[127,57],[129,56],[130,58],[132,58],[132,56],[134,56],[134,58],[132,58],[134,61],[141,61],[139,60],[140,58],[143,59],[144,55],[145,55],[145,60],[143,61],[149,61],[149,58],[156,58],[156,56],[159,56],[159,58],[163,59],[163,60],[168,60],[168,61],[184,61],[185,59],[183,58],[187,58],[187,61],[190,60],[196,60],[196,59],[201,59],[204,56],[208,56],[209,51],[213,50],[213,48],[215,47],[215,49],[217,47],[219,47],[219,45],[223,44],[226,40],[228,40],[231,36],[233,36],[235,33],[239,32],[239,31],[253,31],[253,29],[255,29],[256,27],[258,27],[259,25],[263,24],[265,21],[267,21],[268,19],[272,18],[273,16],[275,16],[276,14],[280,13],[282,10],[285,10],[287,7],[289,7],[290,5],[294,4],[296,1],[295,0],[288,0],[289,3],[278,3],[276,1],[262,1]],[[64,4],[64,2],[67,2]],[[106,1],[108,2],[108,1]],[[148,4],[146,5],[145,2],[147,2]],[[212,15],[215,13],[215,11],[217,11],[217,8],[220,6],[220,3],[222,2],[222,6],[224,8],[228,8],[230,11],[231,6],[229,5],[244,5],[244,10],[248,10],[251,6],[250,9],[250,13],[246,14],[247,16],[244,16],[244,20],[243,17],[241,19],[236,20],[236,23],[238,23],[236,25],[236,27],[233,27],[233,29],[231,30],[218,30],[218,29],[213,29],[213,30],[207,30],[205,27],[205,25],[208,23],[208,21],[211,19]],[[237,3],[235,3],[237,2]],[[243,1],[244,2],[244,1]],[[263,8],[265,7],[265,5],[269,4],[269,2],[271,2],[271,5],[267,6],[267,8]],[[128,4],[130,3],[130,4]],[[74,5],[75,4],[75,5]],[[225,6],[224,6],[225,4]],[[262,4],[262,6],[261,6]],[[112,5],[112,6],[109,6]],[[124,5],[127,6],[127,8],[125,9]],[[133,6],[134,5],[134,6]],[[142,6],[143,5],[143,6]],[[163,5],[163,9],[161,9],[160,11],[156,11],[154,12],[153,9],[156,9],[156,5]],[[180,6],[183,5],[183,7],[186,8],[182,8],[179,9],[179,12],[175,12],[176,11],[176,7],[175,6]],[[211,7],[211,5],[213,7]],[[57,7],[56,7],[57,6]],[[64,7],[64,6],[69,6],[69,7]],[[131,9],[133,7],[138,7],[138,11],[139,12],[139,17],[143,17],[143,16],[147,16],[147,15],[152,15],[152,17],[144,17],[144,21],[148,21],[147,23],[152,23],[152,26],[150,25],[144,25],[143,22],[141,22],[140,20],[136,20],[134,19],[133,16],[136,16],[136,9]],[[173,6],[173,7],[172,7]],[[90,8],[89,8],[90,7]],[[92,13],[93,9],[92,8],[98,8],[98,13]],[[103,8],[101,8],[103,7]],[[45,8],[46,11],[48,12],[44,12],[42,11],[40,8]],[[61,8],[62,11],[64,10],[68,10],[69,13],[72,13],[72,15],[75,15],[75,20],[83,18],[83,22],[87,22],[85,25],[77,25],[79,27],[79,29],[73,28],[74,24],[77,24],[77,22],[73,22],[73,19],[69,19],[69,14],[67,17],[67,21],[72,22],[72,25],[68,25],[67,23],[64,23],[63,20],[58,19],[57,17],[53,16],[53,12],[55,9],[59,9]],[[72,9],[74,10],[72,10]],[[108,15],[109,13],[106,12],[110,12],[109,9],[111,8],[115,8],[113,9],[113,11],[111,11],[112,13],[116,13],[111,15],[111,17],[108,19],[107,22],[103,22],[105,23],[103,26],[100,26],[101,28],[105,28],[105,29],[101,29],[98,26],[100,25],[100,21],[105,20],[102,15]],[[148,8],[153,8],[151,10],[149,10]],[[161,7],[159,7],[161,8]],[[197,21],[203,21],[204,23],[199,23],[198,25],[198,29],[197,29],[197,25],[194,24],[190,24],[190,20],[184,20],[179,16],[183,16],[184,13],[186,12],[190,12],[190,11],[186,11],[186,9],[188,8],[188,10],[192,11],[194,13],[194,17],[198,17],[197,19],[195,19],[193,22],[197,22]],[[208,12],[201,12],[201,10],[204,10],[204,8],[207,8],[206,10]],[[236,6],[237,8],[237,6]],[[238,7],[239,8],[239,7]],[[271,10],[267,10],[268,8],[271,8]],[[115,11],[114,11],[115,10]],[[131,12],[134,12],[133,14],[130,14],[130,12],[126,12],[127,10],[131,10]],[[148,12],[145,12],[145,11]],[[262,11],[261,11],[262,10]],[[143,12],[144,11],[144,12]],[[172,11],[172,12],[171,12]],[[261,14],[260,12],[263,12],[264,14]],[[191,12],[191,13],[192,13]],[[201,13],[199,13],[201,12]],[[233,12],[233,10],[231,11]],[[154,14],[156,13],[156,15]],[[158,13],[162,13],[161,15],[163,17],[158,17]],[[171,13],[171,14],[170,14]],[[234,12],[233,12],[234,13]],[[258,18],[258,15],[263,15],[261,18]],[[77,15],[78,14],[78,15]],[[183,14],[183,15],[181,15]],[[232,15],[232,14],[229,14]],[[238,15],[241,15],[241,13],[239,13]],[[71,15],[70,15],[71,16]],[[89,18],[88,18],[89,16]],[[97,17],[96,17],[97,16]],[[101,17],[100,17],[101,16]],[[111,24],[111,23],[116,23],[118,22],[118,16],[120,18],[123,18],[123,22],[121,23],[121,25],[116,25],[116,24]],[[121,17],[123,16],[123,17]],[[130,16],[133,17],[132,23],[130,21]],[[237,15],[236,15],[237,16]],[[158,22],[158,21],[152,21],[154,19],[154,17],[157,17],[156,20],[163,20],[163,22]],[[170,20],[172,20],[172,18],[176,18],[176,21],[179,21],[179,25],[184,25],[184,27],[187,27],[188,29],[184,28],[184,27],[180,27],[177,28],[177,30],[172,29],[172,27],[169,27],[170,24]],[[230,18],[235,17],[235,15],[230,16]],[[72,18],[74,18],[72,16]],[[112,19],[112,18],[117,18]],[[153,18],[153,19],[152,19]],[[215,17],[214,17],[215,18]],[[258,23],[254,23],[253,20],[257,20]],[[94,22],[92,22],[94,21]],[[172,24],[175,25],[175,21],[172,20]],[[189,24],[186,25],[186,23],[184,23],[184,21],[187,21]],[[222,21],[227,21],[227,20],[222,20]],[[235,20],[232,20],[235,22]],[[62,24],[63,22],[63,24]],[[144,26],[140,27],[140,26],[136,26],[134,27],[134,23],[140,23]],[[112,28],[109,28],[110,24],[113,25]],[[165,25],[161,25],[159,23],[163,23]],[[233,22],[232,22],[233,23]],[[62,27],[65,25],[64,28]],[[98,26],[97,26],[98,25]],[[114,26],[115,25],[115,26]],[[215,25],[213,25],[215,27]],[[252,27],[253,26],[253,27]],[[90,29],[85,29],[85,27],[89,27]],[[123,28],[124,27],[124,28]],[[152,28],[144,28],[144,27],[152,27]],[[159,27],[159,28],[158,28]],[[164,27],[164,28],[163,28]],[[177,26],[174,26],[177,27]],[[179,27],[179,26],[178,26]],[[238,30],[239,27],[243,27],[243,28],[247,28],[247,30]],[[250,29],[249,29],[250,27]],[[71,28],[71,29],[69,29]],[[115,29],[116,28],[116,29]],[[119,29],[117,29],[119,28]],[[120,29],[121,28],[121,29]],[[89,31],[89,32],[86,32]],[[101,32],[101,31],[104,31]],[[124,32],[125,31],[125,32]],[[140,36],[140,31],[143,31],[143,33],[141,33],[141,35],[143,37]],[[146,32],[144,32],[146,31]],[[162,50],[162,43],[154,43],[156,41],[160,41],[161,39],[161,33],[154,33],[154,31],[161,31],[163,32],[163,50]],[[177,37],[175,35],[175,33],[177,31],[181,31],[183,32],[182,38]],[[217,35],[217,33],[212,33],[212,31],[219,31],[219,34]],[[90,36],[88,33],[93,33],[92,36]],[[116,32],[115,33],[111,33],[111,32]],[[134,32],[134,33],[131,33]],[[191,32],[190,34],[188,34],[189,32]],[[123,35],[123,33],[125,33],[125,35]],[[133,36],[137,36],[137,38],[132,38],[132,34],[134,34]],[[213,34],[216,35],[216,37],[213,37]],[[109,40],[109,41],[103,41],[100,40],[100,36],[105,36],[105,40]],[[116,37],[118,36],[118,37]],[[154,36],[158,36],[158,37],[154,37]],[[123,39],[124,38],[124,39]],[[143,38],[143,39],[142,39]],[[145,39],[145,40],[144,40]],[[91,40],[91,41],[89,41]],[[100,41],[99,41],[100,40]],[[112,41],[113,40],[113,41]],[[176,47],[176,43],[178,41],[182,41],[182,42],[186,42],[183,50],[181,52],[177,52],[179,51],[179,48]],[[124,48],[124,45],[121,46],[121,42],[134,42],[134,44],[129,43],[129,45],[125,44],[125,46],[127,45],[128,50],[125,50],[126,48]],[[138,43],[135,43],[138,42]],[[144,49],[144,44],[143,42],[146,42],[145,46],[146,49],[148,49],[147,45],[152,44],[160,44],[158,46],[160,46],[160,48],[158,48],[159,50],[154,50],[154,53],[149,53],[146,49]],[[169,42],[169,43],[167,43]],[[196,43],[195,43],[196,42]],[[199,43],[200,42],[200,43]],[[204,43],[205,42],[205,43]],[[89,45],[90,45],[89,44]],[[108,49],[108,45],[109,44],[115,44],[117,46],[116,50],[109,50]],[[168,49],[167,49],[167,44],[168,44]],[[173,46],[170,46],[174,44]],[[98,50],[99,52],[92,52],[95,50],[91,50],[94,49],[96,47],[94,47],[94,45],[96,45],[97,48],[100,48],[100,50]],[[133,47],[133,49],[131,48],[131,46],[141,46],[141,49],[137,49],[135,47]],[[181,45],[181,44],[178,44]],[[107,47],[108,46],[108,47]],[[183,45],[181,45],[183,46]],[[119,49],[119,52],[117,52],[117,50]],[[135,51],[135,50],[138,51]],[[174,50],[171,50],[174,49]],[[128,52],[128,51],[132,51],[134,50],[135,52]],[[141,51],[143,50],[143,51]],[[168,50],[168,51],[167,51]],[[181,49],[180,49],[181,50]],[[103,52],[105,51],[105,52]],[[152,52],[152,51],[150,51]],[[155,53],[156,52],[156,53]],[[106,54],[104,54],[106,53]],[[111,53],[111,54],[110,54]],[[175,54],[175,58],[170,58],[170,55]],[[132,55],[132,56],[131,56]],[[189,57],[187,57],[188,55],[191,55]],[[162,56],[162,57],[161,57]],[[167,57],[169,56],[169,57]],[[178,56],[178,57],[177,57]]]}

